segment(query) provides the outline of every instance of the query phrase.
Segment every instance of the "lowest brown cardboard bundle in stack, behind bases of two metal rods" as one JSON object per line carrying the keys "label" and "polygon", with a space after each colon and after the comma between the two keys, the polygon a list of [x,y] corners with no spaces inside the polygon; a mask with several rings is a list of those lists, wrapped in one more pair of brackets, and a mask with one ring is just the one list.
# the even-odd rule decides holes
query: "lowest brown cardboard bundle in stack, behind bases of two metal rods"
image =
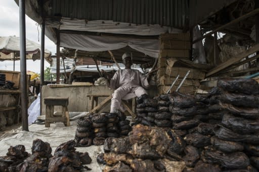
{"label": "lowest brown cardboard bundle in stack, behind bases of two metal rods", "polygon": [[[170,86],[158,86],[158,94],[166,94],[169,88]],[[178,85],[172,86],[172,88],[170,89],[170,92],[176,91],[177,88],[178,88]],[[193,95],[195,94],[197,89],[198,88],[194,86],[181,86],[179,92]]]}

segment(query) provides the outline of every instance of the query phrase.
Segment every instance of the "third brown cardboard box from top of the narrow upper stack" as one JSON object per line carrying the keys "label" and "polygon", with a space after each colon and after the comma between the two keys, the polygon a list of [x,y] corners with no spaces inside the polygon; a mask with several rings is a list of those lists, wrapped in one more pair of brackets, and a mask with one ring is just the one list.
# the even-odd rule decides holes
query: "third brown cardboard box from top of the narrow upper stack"
{"label": "third brown cardboard box from top of the narrow upper stack", "polygon": [[184,58],[184,60],[189,60],[190,51],[189,49],[161,49],[160,56],[163,58]]}

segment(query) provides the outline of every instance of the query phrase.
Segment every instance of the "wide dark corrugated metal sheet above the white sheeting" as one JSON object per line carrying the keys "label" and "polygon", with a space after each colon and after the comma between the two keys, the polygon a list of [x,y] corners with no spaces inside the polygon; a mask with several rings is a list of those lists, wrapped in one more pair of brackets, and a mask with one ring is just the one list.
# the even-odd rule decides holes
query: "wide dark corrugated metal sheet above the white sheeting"
{"label": "wide dark corrugated metal sheet above the white sheeting", "polygon": [[[191,0],[192,1],[192,0]],[[183,28],[189,0],[53,0],[51,15]]]}

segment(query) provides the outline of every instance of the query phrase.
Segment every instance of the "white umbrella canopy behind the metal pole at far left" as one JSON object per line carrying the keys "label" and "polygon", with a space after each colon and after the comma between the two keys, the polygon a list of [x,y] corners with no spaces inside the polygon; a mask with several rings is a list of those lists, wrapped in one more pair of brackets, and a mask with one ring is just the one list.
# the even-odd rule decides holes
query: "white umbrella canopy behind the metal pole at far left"
{"label": "white umbrella canopy behind the metal pole at far left", "polygon": [[[0,61],[19,60],[20,56],[20,38],[16,36],[0,37]],[[45,49],[44,58],[50,58],[51,51]],[[40,59],[40,44],[26,39],[26,59],[33,61]]]}

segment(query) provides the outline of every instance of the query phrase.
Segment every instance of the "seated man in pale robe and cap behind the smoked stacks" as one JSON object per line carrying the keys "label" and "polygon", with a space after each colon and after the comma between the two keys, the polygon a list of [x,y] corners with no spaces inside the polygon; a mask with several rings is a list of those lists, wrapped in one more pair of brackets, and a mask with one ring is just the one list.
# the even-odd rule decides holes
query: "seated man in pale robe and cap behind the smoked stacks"
{"label": "seated man in pale robe and cap behind the smoked stacks", "polygon": [[147,92],[144,88],[149,88],[149,76],[144,77],[138,70],[131,69],[132,57],[130,53],[124,53],[122,55],[122,61],[125,65],[125,69],[118,70],[114,76],[102,70],[101,72],[107,78],[107,84],[109,88],[114,89],[113,97],[111,99],[111,113],[124,112],[125,109],[121,105],[121,99],[128,93],[134,93],[132,97],[123,99],[130,99],[135,96],[138,97],[138,102],[141,103],[144,98],[147,98]]}

